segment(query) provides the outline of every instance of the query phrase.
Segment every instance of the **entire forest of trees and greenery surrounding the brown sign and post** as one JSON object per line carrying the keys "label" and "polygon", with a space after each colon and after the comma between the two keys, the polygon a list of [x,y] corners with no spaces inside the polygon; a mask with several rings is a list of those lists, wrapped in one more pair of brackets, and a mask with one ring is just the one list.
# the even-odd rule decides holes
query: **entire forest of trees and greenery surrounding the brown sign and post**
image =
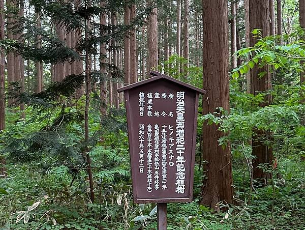
{"label": "entire forest of trees and greenery surrounding the brown sign and post", "polygon": [[168,229],[303,229],[305,0],[0,0],[0,229],[156,229],[123,85],[202,88],[194,201]]}

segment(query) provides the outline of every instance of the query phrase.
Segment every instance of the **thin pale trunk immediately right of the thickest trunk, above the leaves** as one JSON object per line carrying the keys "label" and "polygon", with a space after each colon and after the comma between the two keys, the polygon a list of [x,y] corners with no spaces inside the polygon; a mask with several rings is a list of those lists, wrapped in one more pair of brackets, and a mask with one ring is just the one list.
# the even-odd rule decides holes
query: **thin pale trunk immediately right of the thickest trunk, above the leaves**
{"label": "thin pale trunk immediately right of the thickest trunk, above the leaves", "polygon": [[235,69],[237,67],[237,59],[234,53],[236,52],[236,3],[235,0],[231,0],[231,69]]}

